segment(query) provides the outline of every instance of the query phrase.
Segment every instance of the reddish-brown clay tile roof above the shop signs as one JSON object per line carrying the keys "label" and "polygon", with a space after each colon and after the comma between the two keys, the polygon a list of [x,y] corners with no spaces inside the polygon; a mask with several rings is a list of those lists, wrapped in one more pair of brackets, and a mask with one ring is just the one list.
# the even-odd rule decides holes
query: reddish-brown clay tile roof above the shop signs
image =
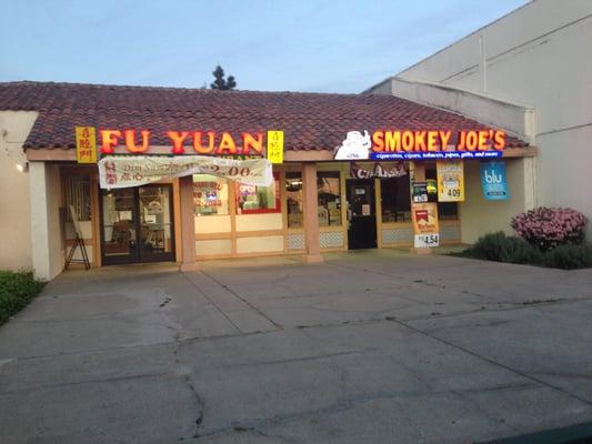
{"label": "reddish-brown clay tile roof above the shop signs", "polygon": [[[0,83],[0,110],[38,111],[23,148],[74,148],[74,127],[149,129],[151,144],[169,145],[165,131],[284,131],[287,150],[332,150],[348,131],[379,129],[479,130],[462,115],[392,95],[103,84]],[[528,143],[509,137],[509,147]]]}

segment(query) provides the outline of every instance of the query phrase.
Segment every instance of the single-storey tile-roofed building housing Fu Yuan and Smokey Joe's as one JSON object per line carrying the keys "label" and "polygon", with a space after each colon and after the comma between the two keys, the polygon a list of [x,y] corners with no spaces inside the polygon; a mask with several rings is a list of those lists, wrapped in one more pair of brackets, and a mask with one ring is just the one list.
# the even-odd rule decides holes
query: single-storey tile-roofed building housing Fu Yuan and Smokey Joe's
{"label": "single-storey tile-roofed building housing Fu Yuan and Smokey Joe's", "polygon": [[[43,279],[63,270],[77,231],[92,266],[320,262],[418,246],[429,218],[438,244],[472,242],[500,211],[528,206],[536,153],[504,128],[390,95],[17,82],[0,84],[0,268]],[[483,198],[489,158],[506,168],[500,202]],[[463,195],[438,199],[453,162]],[[427,201],[437,214],[414,212]]]}

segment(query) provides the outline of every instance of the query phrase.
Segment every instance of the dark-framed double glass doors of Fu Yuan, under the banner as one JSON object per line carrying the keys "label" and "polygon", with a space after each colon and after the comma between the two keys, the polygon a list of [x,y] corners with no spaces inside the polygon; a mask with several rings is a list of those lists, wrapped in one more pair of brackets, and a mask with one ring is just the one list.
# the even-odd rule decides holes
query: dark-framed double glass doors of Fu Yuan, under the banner
{"label": "dark-framed double glass doors of Fu Yuan, under the banner", "polygon": [[103,265],[174,260],[172,186],[101,190]]}

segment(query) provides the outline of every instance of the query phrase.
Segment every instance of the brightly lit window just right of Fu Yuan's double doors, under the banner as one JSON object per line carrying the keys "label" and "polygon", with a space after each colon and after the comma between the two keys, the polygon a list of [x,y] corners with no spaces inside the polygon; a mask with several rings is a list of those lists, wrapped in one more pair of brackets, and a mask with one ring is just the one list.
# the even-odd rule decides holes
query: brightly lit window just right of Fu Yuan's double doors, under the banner
{"label": "brightly lit window just right of Fu Yuan's double doors, under the banner", "polygon": [[228,214],[228,181],[215,175],[193,174],[193,203],[195,215]]}

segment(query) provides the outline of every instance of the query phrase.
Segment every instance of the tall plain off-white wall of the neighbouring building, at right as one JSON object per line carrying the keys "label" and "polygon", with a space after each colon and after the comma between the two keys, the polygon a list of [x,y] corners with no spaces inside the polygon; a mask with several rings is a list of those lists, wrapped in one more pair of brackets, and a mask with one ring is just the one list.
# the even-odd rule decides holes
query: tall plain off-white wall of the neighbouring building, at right
{"label": "tall plain off-white wall of the neighbouring building, at right", "polygon": [[[534,0],[395,77],[533,107],[532,203],[571,206],[592,221],[592,1]],[[462,104],[455,111],[504,124]]]}

